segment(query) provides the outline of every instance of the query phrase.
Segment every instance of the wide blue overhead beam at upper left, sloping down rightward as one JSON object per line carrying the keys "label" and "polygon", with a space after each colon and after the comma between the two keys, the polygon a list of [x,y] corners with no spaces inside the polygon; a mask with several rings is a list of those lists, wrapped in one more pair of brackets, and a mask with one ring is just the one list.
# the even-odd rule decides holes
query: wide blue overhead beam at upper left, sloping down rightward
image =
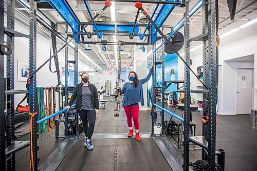
{"label": "wide blue overhead beam at upper left, sloping down rightward", "polygon": [[[63,20],[69,25],[74,35],[79,32],[79,21],[75,14],[71,11],[64,0],[41,0],[40,2],[48,2],[59,14]],[[79,43],[79,36],[75,37],[76,43]]]}

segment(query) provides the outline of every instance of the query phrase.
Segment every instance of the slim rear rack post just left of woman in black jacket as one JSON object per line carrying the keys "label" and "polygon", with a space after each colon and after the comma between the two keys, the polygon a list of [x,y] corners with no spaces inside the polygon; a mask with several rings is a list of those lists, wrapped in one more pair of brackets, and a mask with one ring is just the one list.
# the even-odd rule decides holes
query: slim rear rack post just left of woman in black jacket
{"label": "slim rear rack post just left of woman in black jacket", "polygon": [[[66,41],[68,41],[68,25],[65,24]],[[68,104],[68,46],[65,46],[65,106]],[[68,138],[68,112],[65,111],[65,138]]]}

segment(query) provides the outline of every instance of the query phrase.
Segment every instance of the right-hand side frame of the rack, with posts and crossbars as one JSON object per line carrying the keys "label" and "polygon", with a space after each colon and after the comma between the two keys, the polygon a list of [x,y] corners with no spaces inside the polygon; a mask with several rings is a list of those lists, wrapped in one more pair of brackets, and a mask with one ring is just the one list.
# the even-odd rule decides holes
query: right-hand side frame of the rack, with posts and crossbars
{"label": "right-hand side frame of the rack, with posts and crossbars", "polygon": [[[215,138],[216,138],[216,105],[217,105],[217,52],[218,48],[216,47],[216,34],[218,31],[218,6],[216,0],[203,0],[199,1],[200,6],[203,9],[203,34],[198,35],[190,39],[190,30],[189,30],[189,18],[192,16],[192,13],[189,11],[189,1],[185,2],[185,11],[184,17],[182,20],[174,27],[176,28],[168,37],[163,35],[164,39],[161,43],[161,46],[164,43],[168,43],[167,39],[170,39],[182,26],[184,26],[184,51],[185,51],[185,62],[182,60],[181,56],[176,52],[178,57],[185,63],[185,116],[183,122],[184,130],[184,142],[183,142],[183,170],[189,170],[189,143],[192,142],[196,145],[202,147],[202,159],[208,161],[208,169],[215,170],[215,155],[223,156],[223,159],[218,157],[219,164],[222,165],[224,169],[224,155],[225,151],[223,149],[218,149],[216,151]],[[196,6],[195,6],[196,7]],[[140,7],[139,7],[140,8]],[[194,7],[193,7],[194,8]],[[198,8],[199,9],[199,8]],[[197,10],[198,10],[197,9]],[[145,14],[145,11],[141,9]],[[191,13],[191,14],[190,14]],[[148,17],[149,18],[149,17]],[[153,23],[152,23],[153,24]],[[158,29],[158,28],[156,28]],[[161,34],[160,30],[158,32]],[[209,117],[209,124],[203,123],[203,136],[201,137],[190,137],[189,135],[189,126],[190,126],[190,42],[191,41],[202,41],[203,42],[203,59],[204,59],[204,90],[198,90],[197,93],[203,94],[204,97],[204,111],[205,116]],[[169,44],[169,43],[168,43]],[[156,61],[156,51],[161,47],[156,48],[156,44],[153,44],[153,107],[152,107],[152,137],[157,137],[159,135],[154,135],[154,125],[156,124],[156,90],[162,90],[162,108],[164,106],[164,89],[167,88],[167,83],[171,84],[172,81],[164,81],[164,49],[162,48],[162,61]],[[175,50],[176,51],[176,50]],[[162,64],[162,87],[156,86],[156,65]],[[193,71],[192,71],[193,72]],[[193,72],[194,73],[194,72]],[[194,73],[195,74],[195,73]],[[196,76],[196,74],[195,74]],[[161,125],[164,126],[164,110],[161,111]],[[182,129],[182,128],[181,128]],[[160,136],[163,135],[163,129]]]}

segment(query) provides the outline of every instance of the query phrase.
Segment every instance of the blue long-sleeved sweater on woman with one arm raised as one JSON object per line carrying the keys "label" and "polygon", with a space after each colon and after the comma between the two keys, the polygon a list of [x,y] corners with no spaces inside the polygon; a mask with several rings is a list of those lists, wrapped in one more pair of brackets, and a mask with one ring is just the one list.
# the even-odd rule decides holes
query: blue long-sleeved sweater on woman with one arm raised
{"label": "blue long-sleeved sweater on woman with one arm raised", "polygon": [[143,97],[143,84],[148,82],[152,75],[152,69],[150,69],[146,78],[138,80],[138,86],[135,88],[133,83],[126,82],[122,89],[120,90],[121,94],[124,94],[122,106],[128,106],[135,103],[141,103],[144,105],[144,97]]}

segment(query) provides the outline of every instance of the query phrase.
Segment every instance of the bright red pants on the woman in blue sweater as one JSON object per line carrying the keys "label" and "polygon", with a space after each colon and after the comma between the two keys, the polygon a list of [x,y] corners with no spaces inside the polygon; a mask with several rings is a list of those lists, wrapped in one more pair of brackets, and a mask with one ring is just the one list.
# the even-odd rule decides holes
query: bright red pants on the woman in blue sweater
{"label": "bright red pants on the woman in blue sweater", "polygon": [[132,127],[132,118],[134,121],[135,129],[139,129],[139,106],[123,106],[126,116],[127,116],[127,125]]}

